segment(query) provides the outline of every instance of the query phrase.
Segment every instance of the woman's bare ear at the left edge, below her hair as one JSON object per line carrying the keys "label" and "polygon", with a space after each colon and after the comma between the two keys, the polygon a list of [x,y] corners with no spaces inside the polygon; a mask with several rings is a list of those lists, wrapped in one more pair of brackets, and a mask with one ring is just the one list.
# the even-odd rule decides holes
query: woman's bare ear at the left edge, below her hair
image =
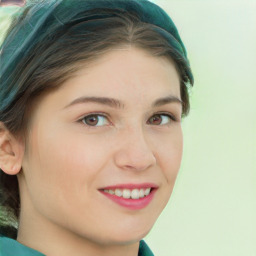
{"label": "woman's bare ear at the left edge, below her hair", "polygon": [[21,170],[23,155],[22,140],[14,137],[0,122],[0,169],[9,175],[18,174]]}

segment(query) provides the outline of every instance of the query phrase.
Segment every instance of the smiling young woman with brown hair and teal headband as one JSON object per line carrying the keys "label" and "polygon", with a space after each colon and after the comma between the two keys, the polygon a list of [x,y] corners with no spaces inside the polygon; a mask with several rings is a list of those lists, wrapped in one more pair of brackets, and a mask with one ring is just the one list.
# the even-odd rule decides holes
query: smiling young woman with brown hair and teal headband
{"label": "smiling young woman with brown hair and teal headband", "polygon": [[21,7],[1,48],[1,255],[153,255],[193,84],[147,0]]}

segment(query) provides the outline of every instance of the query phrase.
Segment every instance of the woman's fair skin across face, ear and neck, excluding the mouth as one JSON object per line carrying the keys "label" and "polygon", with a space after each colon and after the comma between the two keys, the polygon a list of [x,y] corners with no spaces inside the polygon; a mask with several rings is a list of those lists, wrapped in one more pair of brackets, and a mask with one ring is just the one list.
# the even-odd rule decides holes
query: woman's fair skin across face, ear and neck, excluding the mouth
{"label": "woman's fair skin across face, ear and neck, excluding the mouth", "polygon": [[[40,98],[26,145],[7,131],[9,140],[0,144],[9,156],[1,168],[18,174],[17,240],[50,256],[136,256],[180,167],[179,83],[170,60],[127,47],[111,50]],[[171,100],[152,106],[167,96]],[[81,97],[114,98],[122,106],[83,100],[70,105]],[[100,115],[95,123],[81,121],[92,113]],[[99,190],[128,183],[157,186],[143,209],[121,206]]]}

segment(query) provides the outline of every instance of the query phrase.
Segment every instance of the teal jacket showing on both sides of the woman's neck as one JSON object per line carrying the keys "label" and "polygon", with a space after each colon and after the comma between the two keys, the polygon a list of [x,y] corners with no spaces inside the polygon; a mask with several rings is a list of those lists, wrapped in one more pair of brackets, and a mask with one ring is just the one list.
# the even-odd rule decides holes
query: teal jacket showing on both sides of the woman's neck
{"label": "teal jacket showing on both sides of the woman's neck", "polygon": [[[16,240],[0,236],[0,256],[44,256],[44,254],[24,246]],[[147,244],[141,240],[138,256],[154,256]]]}

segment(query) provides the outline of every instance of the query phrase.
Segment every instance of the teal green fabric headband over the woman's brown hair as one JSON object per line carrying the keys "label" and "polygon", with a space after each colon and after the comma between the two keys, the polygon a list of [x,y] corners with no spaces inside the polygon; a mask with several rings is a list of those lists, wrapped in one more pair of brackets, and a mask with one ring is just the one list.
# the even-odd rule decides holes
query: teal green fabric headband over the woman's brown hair
{"label": "teal green fabric headband over the woman's brown hair", "polygon": [[[18,15],[23,16],[24,10],[26,15],[1,46],[0,111],[8,107],[18,91],[18,88],[15,91],[10,86],[15,77],[13,70],[30,49],[67,23],[109,17],[109,14],[102,13],[103,8],[132,12],[137,14],[142,22],[155,25],[156,31],[168,40],[189,66],[186,49],[175,24],[164,10],[148,0],[44,0],[29,3],[27,6],[28,8],[21,7],[21,13]],[[96,8],[99,8],[96,14],[85,15],[85,11]],[[193,81],[192,73],[188,72],[189,80]]]}

